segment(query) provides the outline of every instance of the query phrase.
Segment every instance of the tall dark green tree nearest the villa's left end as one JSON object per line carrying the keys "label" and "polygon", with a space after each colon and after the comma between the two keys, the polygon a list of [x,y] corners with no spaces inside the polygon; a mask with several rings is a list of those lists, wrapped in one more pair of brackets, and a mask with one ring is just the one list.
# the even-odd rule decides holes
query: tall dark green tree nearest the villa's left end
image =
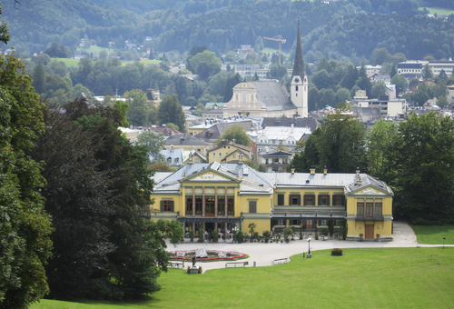
{"label": "tall dark green tree nearest the villa's left end", "polygon": [[[162,270],[167,269],[169,255],[165,252],[158,224],[150,221],[153,181],[152,171],[146,168],[149,163],[146,149],[132,145],[117,130],[123,123],[123,116],[113,108],[89,107],[84,99],[75,100],[64,105],[64,108],[65,115],[78,124],[77,127],[93,134],[94,159],[98,163],[94,173],[106,175],[102,184],[112,194],[108,199],[110,213],[104,216],[104,226],[109,232],[106,237],[108,245],[105,244],[104,252],[100,252],[106,258],[99,265],[98,272],[93,274],[97,281],[91,281],[91,294],[78,296],[126,299],[159,290],[156,278]],[[86,185],[92,190],[99,187],[93,182],[87,182]],[[89,189],[86,190],[88,192]],[[87,200],[87,204],[95,205],[94,202]],[[88,220],[87,217],[84,219]],[[100,228],[98,233],[101,232]],[[102,244],[103,236],[99,235],[101,242],[98,245]],[[114,251],[111,252],[112,246]],[[73,256],[74,253],[68,255]],[[66,267],[71,267],[71,264],[66,264]],[[64,281],[60,282],[64,284]],[[71,286],[64,284],[60,291],[68,291]],[[58,297],[70,296],[75,295],[68,291],[60,293]]]}

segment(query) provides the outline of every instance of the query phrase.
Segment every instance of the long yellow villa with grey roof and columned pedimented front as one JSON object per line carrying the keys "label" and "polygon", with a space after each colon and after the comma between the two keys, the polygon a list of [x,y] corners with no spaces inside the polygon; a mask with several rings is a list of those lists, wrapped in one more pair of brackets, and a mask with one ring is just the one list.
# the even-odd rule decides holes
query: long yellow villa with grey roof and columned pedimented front
{"label": "long yellow villa with grey roof and columned pedimented front", "polygon": [[[260,173],[242,162],[194,164],[154,176],[155,219],[174,219],[196,234],[200,224],[221,234],[236,227],[248,232],[317,234],[329,221],[339,234],[347,223],[349,240],[392,240],[390,187],[368,174]],[[339,235],[339,237],[341,237]]]}

